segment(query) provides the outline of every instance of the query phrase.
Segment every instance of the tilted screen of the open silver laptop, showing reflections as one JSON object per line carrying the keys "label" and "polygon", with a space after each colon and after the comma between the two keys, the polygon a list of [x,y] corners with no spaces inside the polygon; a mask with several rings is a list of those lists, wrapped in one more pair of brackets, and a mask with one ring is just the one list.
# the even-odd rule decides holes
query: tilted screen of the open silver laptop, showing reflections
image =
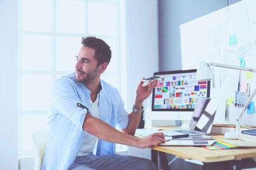
{"label": "tilted screen of the open silver laptop, showing reflections", "polygon": [[210,133],[218,108],[218,102],[218,99],[198,99],[190,121],[190,130]]}

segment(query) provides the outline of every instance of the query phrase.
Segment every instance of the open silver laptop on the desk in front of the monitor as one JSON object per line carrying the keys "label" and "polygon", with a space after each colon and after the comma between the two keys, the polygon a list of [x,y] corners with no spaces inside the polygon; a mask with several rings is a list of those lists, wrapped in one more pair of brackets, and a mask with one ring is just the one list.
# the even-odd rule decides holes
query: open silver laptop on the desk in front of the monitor
{"label": "open silver laptop on the desk in front of the monitor", "polygon": [[189,134],[189,136],[208,135],[211,132],[213,121],[218,108],[218,99],[200,98],[193,112],[188,128],[163,130],[166,136]]}

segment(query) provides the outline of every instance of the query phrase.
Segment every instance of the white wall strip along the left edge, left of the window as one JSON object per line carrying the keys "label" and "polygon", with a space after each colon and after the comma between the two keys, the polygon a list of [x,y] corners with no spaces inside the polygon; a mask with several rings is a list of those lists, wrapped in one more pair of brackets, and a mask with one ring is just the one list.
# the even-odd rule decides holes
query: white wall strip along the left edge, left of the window
{"label": "white wall strip along the left edge, left of the window", "polygon": [[18,170],[18,0],[0,0],[0,169]]}

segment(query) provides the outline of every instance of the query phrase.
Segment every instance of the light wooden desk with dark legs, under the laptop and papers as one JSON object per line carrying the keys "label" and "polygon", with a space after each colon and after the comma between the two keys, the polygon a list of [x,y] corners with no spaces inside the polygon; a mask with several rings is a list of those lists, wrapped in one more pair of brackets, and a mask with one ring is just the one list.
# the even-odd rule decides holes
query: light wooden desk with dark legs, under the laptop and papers
{"label": "light wooden desk with dark legs, under the laptop and papers", "polygon": [[[211,134],[216,140],[223,139],[223,135]],[[160,151],[160,152],[159,152]],[[165,153],[176,155],[182,159],[196,159],[204,163],[203,169],[217,169],[216,163],[224,163],[223,170],[239,170],[242,168],[256,167],[255,161],[256,148],[236,148],[227,150],[207,150],[202,147],[172,147],[172,146],[157,146],[152,148],[152,161],[158,165],[158,155],[163,165],[164,170],[168,170],[168,162]],[[218,164],[219,165],[219,164]],[[248,167],[249,166],[249,167]],[[212,167],[212,168],[211,168]],[[221,170],[219,167],[218,170]]]}

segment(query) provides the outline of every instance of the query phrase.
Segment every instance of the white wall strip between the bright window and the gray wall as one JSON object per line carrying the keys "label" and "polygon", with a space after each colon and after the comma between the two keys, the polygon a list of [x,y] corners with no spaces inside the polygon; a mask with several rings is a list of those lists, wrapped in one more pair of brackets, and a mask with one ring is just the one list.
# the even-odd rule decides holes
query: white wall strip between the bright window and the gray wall
{"label": "white wall strip between the bright window and the gray wall", "polygon": [[[158,71],[158,0],[126,0],[127,108],[142,77]],[[130,110],[129,110],[130,109]]]}

